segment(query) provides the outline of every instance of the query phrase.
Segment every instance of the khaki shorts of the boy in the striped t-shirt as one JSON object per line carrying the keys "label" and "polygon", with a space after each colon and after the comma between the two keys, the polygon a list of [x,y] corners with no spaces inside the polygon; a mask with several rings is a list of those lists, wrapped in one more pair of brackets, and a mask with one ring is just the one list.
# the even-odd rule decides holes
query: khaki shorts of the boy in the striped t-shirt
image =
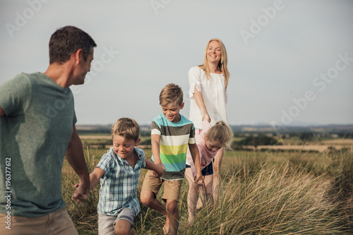
{"label": "khaki shorts of the boy in the striped t-shirt", "polygon": [[157,193],[160,191],[162,183],[164,183],[164,193],[162,195],[162,199],[176,200],[177,202],[179,202],[181,183],[183,183],[183,180],[177,179],[174,181],[167,181],[164,179],[160,179],[158,177],[153,176],[153,171],[151,170],[148,170],[145,175],[145,180],[143,181],[141,191],[152,191],[152,193],[155,193],[156,197]]}

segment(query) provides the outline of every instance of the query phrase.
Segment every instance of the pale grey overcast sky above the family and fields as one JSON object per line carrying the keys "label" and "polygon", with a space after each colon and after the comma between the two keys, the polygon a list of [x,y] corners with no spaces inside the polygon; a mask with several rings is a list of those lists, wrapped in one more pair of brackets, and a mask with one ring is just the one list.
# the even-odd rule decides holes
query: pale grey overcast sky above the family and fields
{"label": "pale grey overcast sky above the family and fields", "polygon": [[74,25],[97,43],[85,84],[71,86],[78,125],[149,124],[168,83],[189,117],[188,71],[217,37],[229,124],[353,123],[352,12],[349,0],[0,0],[0,85],[46,71],[50,36]]}

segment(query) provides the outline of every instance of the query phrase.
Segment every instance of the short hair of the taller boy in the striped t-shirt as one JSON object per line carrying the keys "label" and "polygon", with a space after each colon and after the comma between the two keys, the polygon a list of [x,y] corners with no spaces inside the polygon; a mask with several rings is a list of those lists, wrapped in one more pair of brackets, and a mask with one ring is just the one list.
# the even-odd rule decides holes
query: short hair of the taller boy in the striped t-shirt
{"label": "short hair of the taller boy in the striped t-shirt", "polygon": [[160,92],[160,105],[161,106],[169,106],[171,104],[181,105],[183,103],[183,96],[184,96],[183,90],[181,90],[179,85],[175,85],[174,83],[169,83]]}

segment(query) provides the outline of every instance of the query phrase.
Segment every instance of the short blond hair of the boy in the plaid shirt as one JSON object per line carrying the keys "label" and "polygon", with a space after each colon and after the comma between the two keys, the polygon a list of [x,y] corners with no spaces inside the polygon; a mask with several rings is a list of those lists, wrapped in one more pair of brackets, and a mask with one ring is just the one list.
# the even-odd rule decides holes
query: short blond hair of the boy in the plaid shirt
{"label": "short blond hair of the boy in the plaid shirt", "polygon": [[139,134],[140,126],[135,120],[130,118],[118,119],[112,126],[112,135],[121,135],[128,140],[138,140]]}

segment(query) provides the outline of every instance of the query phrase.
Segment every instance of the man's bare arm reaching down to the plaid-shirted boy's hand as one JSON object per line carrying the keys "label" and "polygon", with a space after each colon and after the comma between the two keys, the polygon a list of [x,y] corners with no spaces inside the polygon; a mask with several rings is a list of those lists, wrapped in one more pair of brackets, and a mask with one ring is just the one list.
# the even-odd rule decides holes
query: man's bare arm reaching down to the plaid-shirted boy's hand
{"label": "man's bare arm reaching down to the plaid-shirted boy's hand", "polygon": [[88,198],[88,195],[90,195],[90,174],[85,162],[82,143],[76,131],[75,125],[73,125],[73,133],[66,150],[66,159],[80,178],[79,186],[76,189],[76,192],[73,193],[73,199],[81,202]]}

